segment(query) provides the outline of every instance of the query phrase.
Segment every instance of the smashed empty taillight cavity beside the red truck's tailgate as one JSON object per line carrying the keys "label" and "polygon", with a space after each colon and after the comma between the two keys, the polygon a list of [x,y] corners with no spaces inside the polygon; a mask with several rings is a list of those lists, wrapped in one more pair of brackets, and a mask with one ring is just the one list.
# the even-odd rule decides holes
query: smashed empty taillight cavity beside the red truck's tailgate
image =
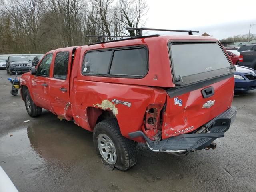
{"label": "smashed empty taillight cavity beside the red truck's tailgate", "polygon": [[162,129],[160,112],[164,104],[150,104],[146,109],[143,132],[151,140],[156,140],[158,132]]}

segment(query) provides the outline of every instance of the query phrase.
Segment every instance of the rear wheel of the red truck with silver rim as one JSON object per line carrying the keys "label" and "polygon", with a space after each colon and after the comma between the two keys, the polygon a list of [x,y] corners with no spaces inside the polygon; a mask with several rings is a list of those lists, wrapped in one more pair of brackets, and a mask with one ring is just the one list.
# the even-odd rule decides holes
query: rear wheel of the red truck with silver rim
{"label": "rear wheel of the red truck with silver rim", "polygon": [[93,142],[104,164],[124,171],[137,162],[136,142],[122,136],[116,119],[106,119],[96,124]]}

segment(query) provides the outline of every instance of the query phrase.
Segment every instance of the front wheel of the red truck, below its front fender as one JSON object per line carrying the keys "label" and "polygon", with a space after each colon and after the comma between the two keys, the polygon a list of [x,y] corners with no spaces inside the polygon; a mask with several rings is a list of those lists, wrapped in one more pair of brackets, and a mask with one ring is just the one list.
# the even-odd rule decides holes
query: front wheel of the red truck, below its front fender
{"label": "front wheel of the red truck, below its front fender", "polygon": [[38,107],[38,106],[36,106],[36,104],[34,104],[33,100],[30,97],[28,89],[25,90],[24,99],[25,99],[26,110],[27,110],[29,116],[31,116],[31,117],[40,116],[42,113],[42,108]]}

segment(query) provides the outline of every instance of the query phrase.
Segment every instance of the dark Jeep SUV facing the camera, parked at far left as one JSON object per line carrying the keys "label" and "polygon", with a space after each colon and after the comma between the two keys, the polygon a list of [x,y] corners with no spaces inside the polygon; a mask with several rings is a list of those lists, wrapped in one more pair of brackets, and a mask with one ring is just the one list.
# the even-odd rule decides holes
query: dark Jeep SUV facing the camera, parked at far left
{"label": "dark Jeep SUV facing the camera, parked at far left", "polygon": [[10,75],[15,74],[15,71],[28,72],[31,67],[32,64],[24,56],[9,56],[6,60],[6,71]]}

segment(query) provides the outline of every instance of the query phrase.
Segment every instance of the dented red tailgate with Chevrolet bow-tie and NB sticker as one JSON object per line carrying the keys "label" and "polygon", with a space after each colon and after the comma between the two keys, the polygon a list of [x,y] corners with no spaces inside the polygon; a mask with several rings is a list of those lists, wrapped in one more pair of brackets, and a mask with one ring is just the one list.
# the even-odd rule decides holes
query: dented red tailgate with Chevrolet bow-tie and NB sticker
{"label": "dented red tailgate with Chevrolet bow-tie and NB sticker", "polygon": [[[202,90],[213,89],[214,94],[204,98]],[[177,89],[178,90],[178,89]],[[163,119],[162,138],[188,133],[203,126],[230,108],[233,100],[234,77],[215,82],[196,90],[168,91]]]}

